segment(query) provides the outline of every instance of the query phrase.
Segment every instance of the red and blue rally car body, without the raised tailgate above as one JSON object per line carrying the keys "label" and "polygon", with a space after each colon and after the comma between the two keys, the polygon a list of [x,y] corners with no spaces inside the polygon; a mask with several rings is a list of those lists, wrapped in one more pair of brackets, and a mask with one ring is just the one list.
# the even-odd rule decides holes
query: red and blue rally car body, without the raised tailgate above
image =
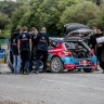
{"label": "red and blue rally car body, without the raised tailgate above", "polygon": [[83,69],[91,73],[96,67],[96,56],[80,38],[50,38],[48,67],[53,73],[65,69]]}

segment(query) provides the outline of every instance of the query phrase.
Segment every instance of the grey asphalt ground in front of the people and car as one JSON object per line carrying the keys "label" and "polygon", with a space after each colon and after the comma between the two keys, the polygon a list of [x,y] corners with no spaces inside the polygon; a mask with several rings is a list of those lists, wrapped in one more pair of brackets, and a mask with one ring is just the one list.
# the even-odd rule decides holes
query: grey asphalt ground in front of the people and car
{"label": "grey asphalt ground in front of the people and car", "polygon": [[104,104],[102,70],[13,75],[0,64],[0,104]]}

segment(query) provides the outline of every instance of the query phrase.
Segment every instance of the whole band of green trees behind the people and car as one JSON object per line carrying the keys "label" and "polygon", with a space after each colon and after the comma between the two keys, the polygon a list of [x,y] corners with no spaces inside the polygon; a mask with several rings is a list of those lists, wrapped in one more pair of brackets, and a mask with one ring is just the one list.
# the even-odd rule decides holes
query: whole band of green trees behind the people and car
{"label": "whole band of green trees behind the people and car", "polygon": [[9,15],[10,20],[12,16],[12,23],[9,26],[14,30],[17,25],[26,25],[40,30],[46,26],[50,36],[63,36],[67,23],[103,27],[104,0],[101,1],[98,6],[93,0],[17,0],[16,3],[0,2],[0,11]]}

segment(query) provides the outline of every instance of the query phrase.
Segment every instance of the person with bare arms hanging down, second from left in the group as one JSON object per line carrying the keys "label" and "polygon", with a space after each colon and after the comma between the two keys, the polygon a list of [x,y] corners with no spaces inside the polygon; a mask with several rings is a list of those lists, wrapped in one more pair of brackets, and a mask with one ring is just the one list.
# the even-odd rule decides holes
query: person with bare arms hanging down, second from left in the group
{"label": "person with bare arms hanging down, second from left in the group", "polygon": [[27,32],[27,27],[23,27],[23,32],[18,36],[18,53],[22,58],[22,74],[29,74],[29,53],[31,51],[31,39]]}

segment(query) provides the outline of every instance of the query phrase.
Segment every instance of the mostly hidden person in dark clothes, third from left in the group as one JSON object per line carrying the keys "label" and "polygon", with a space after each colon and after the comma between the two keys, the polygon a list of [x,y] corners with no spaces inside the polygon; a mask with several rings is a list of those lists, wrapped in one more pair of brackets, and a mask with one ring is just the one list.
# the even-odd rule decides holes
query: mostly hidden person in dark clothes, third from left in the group
{"label": "mostly hidden person in dark clothes, third from left in the group", "polygon": [[30,54],[30,61],[29,61],[29,69],[31,72],[32,70],[32,61],[35,60],[36,50],[37,50],[37,41],[36,41],[37,35],[38,35],[37,28],[32,27],[30,35],[31,35],[31,44],[32,44],[32,47],[31,47],[31,54]]}

